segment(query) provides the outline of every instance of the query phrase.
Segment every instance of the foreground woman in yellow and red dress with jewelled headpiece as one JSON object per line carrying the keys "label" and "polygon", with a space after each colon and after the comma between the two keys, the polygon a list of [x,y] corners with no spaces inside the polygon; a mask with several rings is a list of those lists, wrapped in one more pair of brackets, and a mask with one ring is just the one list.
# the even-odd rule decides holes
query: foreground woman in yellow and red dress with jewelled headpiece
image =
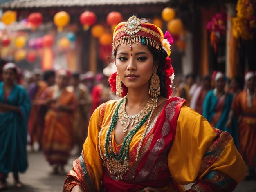
{"label": "foreground woman in yellow and red dress with jewelled headpiece", "polygon": [[184,191],[193,182],[191,191],[228,191],[243,179],[245,164],[231,136],[184,99],[167,99],[174,76],[169,42],[170,34],[136,16],[115,27],[117,73],[109,82],[124,98],[92,114],[64,192]]}

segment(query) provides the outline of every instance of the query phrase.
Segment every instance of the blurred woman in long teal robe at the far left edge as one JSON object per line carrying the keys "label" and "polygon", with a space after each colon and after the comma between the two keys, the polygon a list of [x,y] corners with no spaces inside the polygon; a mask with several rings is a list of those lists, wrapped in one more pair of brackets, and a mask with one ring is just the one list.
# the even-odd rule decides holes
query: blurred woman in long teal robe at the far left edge
{"label": "blurred woman in long teal robe at the far left edge", "polygon": [[29,96],[16,84],[18,67],[7,63],[2,68],[0,82],[0,190],[6,188],[6,178],[13,172],[16,187],[22,187],[18,172],[27,169],[27,122],[30,112]]}

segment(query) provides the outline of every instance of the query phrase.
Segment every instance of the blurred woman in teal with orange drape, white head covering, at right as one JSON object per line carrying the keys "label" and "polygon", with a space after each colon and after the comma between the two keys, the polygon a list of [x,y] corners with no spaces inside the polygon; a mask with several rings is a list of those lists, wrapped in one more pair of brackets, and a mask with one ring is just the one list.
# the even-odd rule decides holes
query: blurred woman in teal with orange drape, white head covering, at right
{"label": "blurred woman in teal with orange drape, white head covering, at right", "polygon": [[203,116],[213,127],[229,132],[234,139],[236,147],[238,147],[236,120],[232,118],[232,125],[229,127],[226,126],[233,97],[224,90],[226,84],[225,75],[221,72],[217,72],[213,74],[213,76],[215,89],[209,91],[204,98]]}

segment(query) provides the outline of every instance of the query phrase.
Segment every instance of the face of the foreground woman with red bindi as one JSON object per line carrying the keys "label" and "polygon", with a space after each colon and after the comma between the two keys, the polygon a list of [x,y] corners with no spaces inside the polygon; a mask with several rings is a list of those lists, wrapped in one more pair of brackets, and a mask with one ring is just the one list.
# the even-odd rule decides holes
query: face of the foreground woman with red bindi
{"label": "face of the foreground woman with red bindi", "polygon": [[130,50],[130,45],[121,44],[117,47],[115,61],[119,77],[128,89],[149,89],[149,80],[157,66],[154,66],[153,55],[147,46],[132,44]]}

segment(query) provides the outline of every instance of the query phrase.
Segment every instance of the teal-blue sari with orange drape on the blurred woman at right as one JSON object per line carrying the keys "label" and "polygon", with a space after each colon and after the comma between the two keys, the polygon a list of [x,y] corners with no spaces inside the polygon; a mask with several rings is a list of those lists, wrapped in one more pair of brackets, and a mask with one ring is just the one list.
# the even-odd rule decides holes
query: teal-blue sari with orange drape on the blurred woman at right
{"label": "teal-blue sari with orange drape on the blurred woman at right", "polygon": [[232,100],[233,96],[230,93],[226,93],[225,96],[218,99],[214,94],[214,90],[211,90],[204,98],[202,115],[209,121],[209,123],[211,123],[211,125],[213,125],[213,127],[229,132],[238,148],[238,126],[236,119],[233,118],[231,126],[226,127]]}

